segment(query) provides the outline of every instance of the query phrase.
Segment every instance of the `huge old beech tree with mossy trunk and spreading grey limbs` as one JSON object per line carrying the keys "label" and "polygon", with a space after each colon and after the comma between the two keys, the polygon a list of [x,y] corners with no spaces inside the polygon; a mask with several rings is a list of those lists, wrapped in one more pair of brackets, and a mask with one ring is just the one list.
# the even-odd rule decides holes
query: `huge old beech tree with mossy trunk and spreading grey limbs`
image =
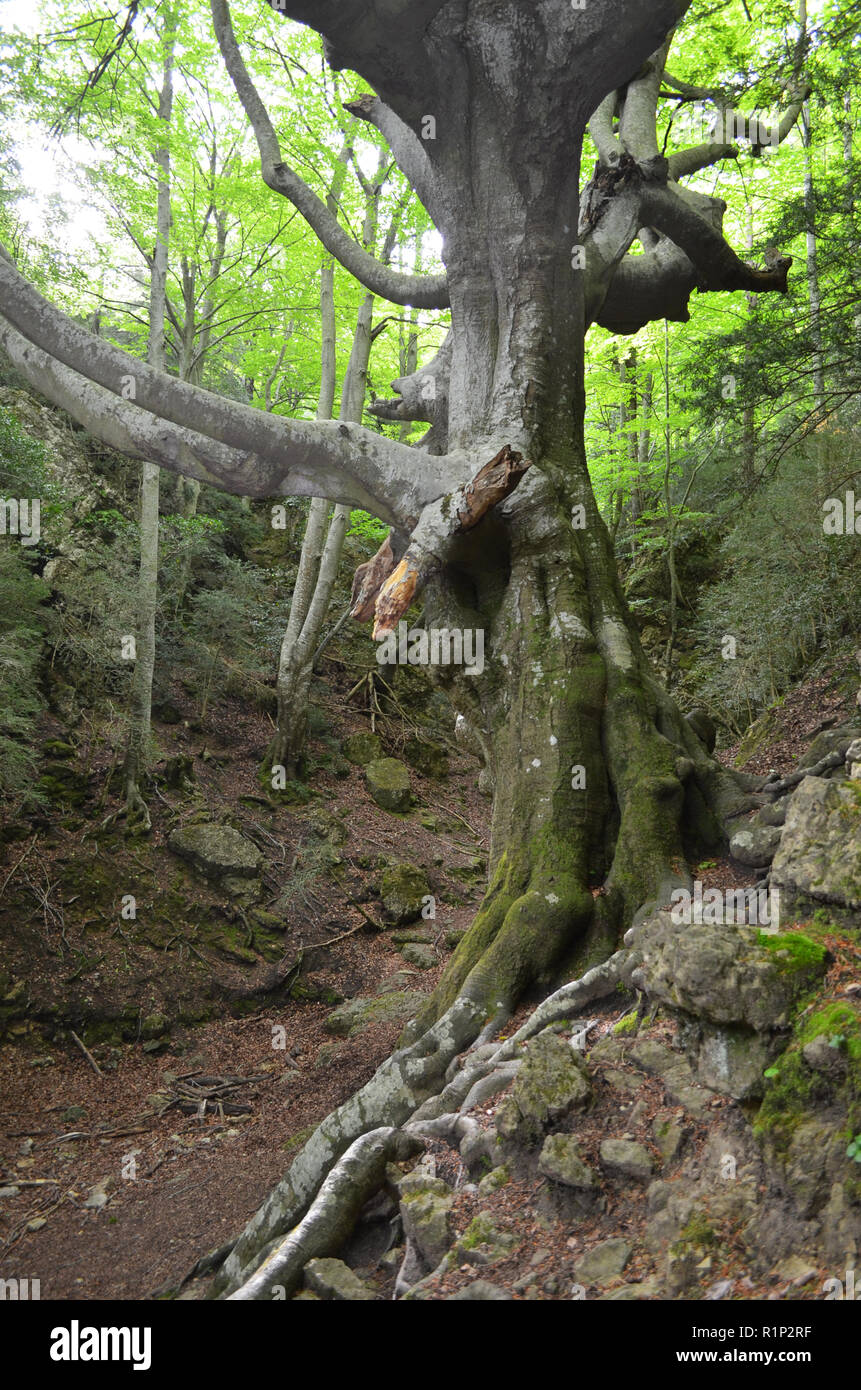
{"label": "huge old beech tree with mossy trunk and spreading grey limbs", "polygon": [[[427,278],[351,239],[284,163],[227,0],[211,0],[267,186],[369,292],[451,306],[438,357],[377,407],[427,420],[423,448],[357,424],[275,418],[170,379],[93,339],[0,261],[0,339],[93,434],[231,492],[364,507],[392,527],[357,582],[356,612],[376,609],[376,634],[396,626],[421,587],[434,626],[485,630],[485,671],[458,688],[495,785],[484,902],[409,1045],[320,1126],[234,1247],[220,1289],[241,1298],[289,1284],[296,1243],[282,1233],[309,1207],[307,1230],[320,1232],[331,1211],[355,1205],[398,1126],[442,1087],[451,1058],[523,991],[588,967],[577,999],[612,987],[601,962],[612,962],[620,934],[689,883],[690,852],[716,845],[747,803],[641,652],[590,485],[584,338],[593,322],[625,334],[686,320],[694,291],[782,292],[790,264],[739,259],[722,234],[725,204],[682,182],[734,157],[732,143],[669,158],[659,150],[657,103],[665,83],[680,90],[666,64],[689,0],[275,8],[317,29],[331,65],[370,86],[349,110],[387,139],[442,235],[445,275]],[[719,92],[698,96],[726,106]],[[776,138],[803,97],[787,83]],[[587,125],[600,161],[583,185]],[[734,129],[771,139],[740,113]],[[122,392],[129,377],[134,400]]]}

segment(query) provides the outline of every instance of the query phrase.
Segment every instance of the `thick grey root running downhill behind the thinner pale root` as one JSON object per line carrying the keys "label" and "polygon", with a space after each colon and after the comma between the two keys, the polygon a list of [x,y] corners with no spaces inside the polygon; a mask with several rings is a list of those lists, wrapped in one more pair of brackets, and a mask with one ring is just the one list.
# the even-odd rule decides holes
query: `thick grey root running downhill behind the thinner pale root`
{"label": "thick grey root running downhill behind the thinner pale root", "polygon": [[441,1088],[449,1062],[469,1047],[481,1023],[481,1011],[458,999],[417,1042],[392,1054],[360,1091],[323,1120],[239,1236],[216,1276],[211,1297],[230,1294],[250,1279],[271,1243],[305,1216],[353,1140],[373,1129],[402,1125]]}

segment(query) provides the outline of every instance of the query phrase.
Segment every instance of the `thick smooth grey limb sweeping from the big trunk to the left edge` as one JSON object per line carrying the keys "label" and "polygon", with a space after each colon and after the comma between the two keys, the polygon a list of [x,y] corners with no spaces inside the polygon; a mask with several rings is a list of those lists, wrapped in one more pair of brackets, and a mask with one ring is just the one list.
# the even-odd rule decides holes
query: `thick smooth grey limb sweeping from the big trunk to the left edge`
{"label": "thick smooth grey limb sweeping from the big trunk to the left edge", "polygon": [[61,314],[4,254],[0,313],[18,370],[49,400],[115,448],[227,492],[324,496],[409,530],[463,477],[456,460],[430,463],[360,425],[267,414],[156,371]]}

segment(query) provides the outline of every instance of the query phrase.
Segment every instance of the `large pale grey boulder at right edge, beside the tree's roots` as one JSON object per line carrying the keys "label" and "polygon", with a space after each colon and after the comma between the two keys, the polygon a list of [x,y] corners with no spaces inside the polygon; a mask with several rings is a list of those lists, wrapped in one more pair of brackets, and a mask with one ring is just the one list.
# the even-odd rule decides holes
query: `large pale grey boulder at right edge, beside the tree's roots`
{"label": "large pale grey boulder at right edge, beside the tree's roots", "polygon": [[854,783],[805,777],[796,787],[771,881],[796,898],[861,908],[861,799]]}

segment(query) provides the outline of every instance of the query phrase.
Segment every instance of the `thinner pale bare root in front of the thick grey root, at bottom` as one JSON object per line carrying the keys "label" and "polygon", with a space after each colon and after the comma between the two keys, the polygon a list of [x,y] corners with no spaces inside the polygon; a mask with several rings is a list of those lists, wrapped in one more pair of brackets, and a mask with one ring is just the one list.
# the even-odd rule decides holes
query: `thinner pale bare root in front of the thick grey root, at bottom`
{"label": "thinner pale bare root in front of the thick grey root, at bottom", "polygon": [[362,1134],[335,1163],[312,1202],[307,1215],[228,1301],[250,1302],[268,1298],[275,1287],[289,1295],[298,1287],[309,1259],[341,1248],[353,1229],[362,1207],[373,1197],[394,1158],[419,1152],[420,1141],[391,1126]]}

